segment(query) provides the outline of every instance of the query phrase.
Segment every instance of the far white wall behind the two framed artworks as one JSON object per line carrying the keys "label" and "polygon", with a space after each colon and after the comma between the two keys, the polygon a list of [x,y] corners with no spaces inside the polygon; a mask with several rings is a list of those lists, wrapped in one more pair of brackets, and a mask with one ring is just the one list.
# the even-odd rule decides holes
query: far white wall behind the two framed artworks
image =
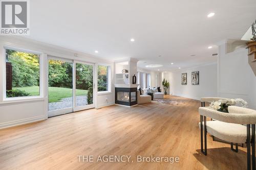
{"label": "far white wall behind the two framed artworks", "polygon": [[[199,71],[199,85],[191,85],[191,72]],[[181,74],[187,73],[187,85],[181,85]],[[200,100],[217,96],[217,63],[203,65],[164,74],[170,80],[170,93],[185,98]]]}

